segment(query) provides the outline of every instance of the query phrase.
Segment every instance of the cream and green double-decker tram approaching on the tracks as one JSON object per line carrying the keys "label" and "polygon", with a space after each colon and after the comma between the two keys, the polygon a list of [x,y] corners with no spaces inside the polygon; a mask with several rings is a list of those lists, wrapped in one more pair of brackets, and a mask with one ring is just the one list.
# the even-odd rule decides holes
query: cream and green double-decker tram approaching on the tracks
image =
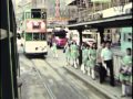
{"label": "cream and green double-decker tram approaching on the tracks", "polygon": [[47,9],[30,9],[23,13],[23,51],[25,54],[47,55]]}

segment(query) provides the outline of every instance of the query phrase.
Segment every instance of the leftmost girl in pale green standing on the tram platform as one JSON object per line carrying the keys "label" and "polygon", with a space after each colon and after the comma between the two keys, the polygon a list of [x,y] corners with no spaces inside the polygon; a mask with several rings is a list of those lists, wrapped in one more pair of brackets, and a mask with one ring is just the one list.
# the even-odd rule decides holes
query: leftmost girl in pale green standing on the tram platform
{"label": "leftmost girl in pale green standing on the tram platform", "polygon": [[65,58],[66,58],[66,66],[69,66],[71,59],[71,47],[69,42],[65,45]]}

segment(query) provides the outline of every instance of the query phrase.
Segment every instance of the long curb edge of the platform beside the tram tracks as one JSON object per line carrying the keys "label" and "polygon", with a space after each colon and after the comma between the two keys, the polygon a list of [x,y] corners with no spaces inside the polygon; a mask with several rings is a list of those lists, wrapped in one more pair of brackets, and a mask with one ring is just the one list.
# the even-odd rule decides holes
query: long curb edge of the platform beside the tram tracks
{"label": "long curb edge of the platform beside the tram tracks", "polygon": [[75,72],[73,72],[72,69],[69,69],[68,67],[63,67],[64,69],[66,69],[70,74],[72,74],[73,76],[78,77],[80,80],[84,81],[88,86],[92,87],[94,90],[99,91],[100,94],[102,94],[106,99],[121,99],[116,96],[109,96],[109,91],[103,91],[100,88],[98,88],[96,86],[92,85],[91,82],[89,82],[85,78],[80,77]]}

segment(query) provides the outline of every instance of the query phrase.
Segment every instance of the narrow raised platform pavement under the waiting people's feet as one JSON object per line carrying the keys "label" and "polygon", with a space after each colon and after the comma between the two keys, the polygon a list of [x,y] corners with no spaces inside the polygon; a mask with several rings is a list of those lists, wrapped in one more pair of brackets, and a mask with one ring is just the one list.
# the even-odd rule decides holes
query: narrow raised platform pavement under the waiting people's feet
{"label": "narrow raised platform pavement under the waiting people's feet", "polygon": [[93,87],[94,89],[99,90],[101,94],[106,96],[106,99],[132,99],[129,98],[121,98],[121,86],[116,85],[115,87],[111,87],[109,82],[100,84],[99,79],[92,80],[86,74],[83,74],[80,69],[75,69],[71,66],[64,66],[64,68],[70,72],[72,75],[76,76],[79,79],[83,80],[89,86]]}

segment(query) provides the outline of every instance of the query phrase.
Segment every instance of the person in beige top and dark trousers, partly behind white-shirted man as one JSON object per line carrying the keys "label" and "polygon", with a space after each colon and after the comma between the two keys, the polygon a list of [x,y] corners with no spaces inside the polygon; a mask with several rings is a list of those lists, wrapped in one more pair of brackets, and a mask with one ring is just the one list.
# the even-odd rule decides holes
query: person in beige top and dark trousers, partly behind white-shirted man
{"label": "person in beige top and dark trousers, partly behind white-shirted man", "polygon": [[106,77],[106,69],[102,65],[102,58],[101,58],[101,52],[104,47],[105,47],[105,42],[102,42],[101,46],[96,51],[96,66],[99,66],[98,67],[98,73],[99,73],[99,76],[100,76],[100,84],[104,82],[105,77]]}

